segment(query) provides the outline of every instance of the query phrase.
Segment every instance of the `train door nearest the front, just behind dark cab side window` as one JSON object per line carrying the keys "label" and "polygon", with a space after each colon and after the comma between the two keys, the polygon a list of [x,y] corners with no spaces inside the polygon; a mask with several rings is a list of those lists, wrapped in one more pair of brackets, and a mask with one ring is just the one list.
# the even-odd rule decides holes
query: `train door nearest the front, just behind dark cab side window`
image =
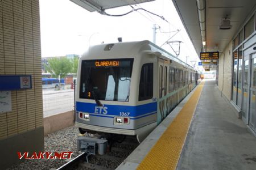
{"label": "train door nearest the front, just behind dark cab side window", "polygon": [[167,114],[167,108],[165,104],[167,94],[167,65],[164,63],[164,59],[158,58],[158,124],[164,119]]}

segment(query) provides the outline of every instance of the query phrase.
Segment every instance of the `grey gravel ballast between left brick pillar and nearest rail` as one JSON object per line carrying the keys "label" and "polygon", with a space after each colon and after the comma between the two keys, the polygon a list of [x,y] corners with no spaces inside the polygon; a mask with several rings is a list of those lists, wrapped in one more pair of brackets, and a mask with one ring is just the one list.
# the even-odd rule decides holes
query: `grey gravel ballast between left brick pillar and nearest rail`
{"label": "grey gravel ballast between left brick pillar and nearest rail", "polygon": [[[75,126],[71,126],[54,133],[48,134],[44,137],[44,151],[47,152],[61,152],[71,151],[73,152],[71,158],[75,158],[79,155],[79,151],[76,148],[76,138],[79,134],[79,130]],[[59,159],[42,159],[42,160],[25,160],[23,163],[14,165],[9,170],[14,169],[51,169],[59,168],[65,164],[65,160]]]}

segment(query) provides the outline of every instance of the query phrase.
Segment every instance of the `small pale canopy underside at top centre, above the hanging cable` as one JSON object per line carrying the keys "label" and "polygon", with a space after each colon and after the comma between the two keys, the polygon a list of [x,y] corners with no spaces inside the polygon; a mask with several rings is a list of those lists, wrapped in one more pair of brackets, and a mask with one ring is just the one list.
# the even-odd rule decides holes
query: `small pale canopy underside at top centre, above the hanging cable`
{"label": "small pale canopy underside at top centre, above the hanging cable", "polygon": [[155,0],[70,0],[77,5],[81,6],[82,8],[85,8],[85,10],[88,10],[90,12],[102,12],[104,10],[115,8],[115,7],[121,7],[121,6],[127,6],[127,5],[134,5],[138,3],[144,3],[144,2],[151,2]]}

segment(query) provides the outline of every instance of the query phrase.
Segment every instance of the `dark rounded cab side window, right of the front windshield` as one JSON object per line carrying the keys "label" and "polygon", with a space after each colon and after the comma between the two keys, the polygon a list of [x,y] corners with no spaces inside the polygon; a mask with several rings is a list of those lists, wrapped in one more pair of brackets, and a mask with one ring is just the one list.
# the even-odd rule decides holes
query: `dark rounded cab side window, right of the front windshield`
{"label": "dark rounded cab side window, right of the front windshield", "polygon": [[153,63],[145,63],[141,69],[139,81],[139,101],[153,97]]}

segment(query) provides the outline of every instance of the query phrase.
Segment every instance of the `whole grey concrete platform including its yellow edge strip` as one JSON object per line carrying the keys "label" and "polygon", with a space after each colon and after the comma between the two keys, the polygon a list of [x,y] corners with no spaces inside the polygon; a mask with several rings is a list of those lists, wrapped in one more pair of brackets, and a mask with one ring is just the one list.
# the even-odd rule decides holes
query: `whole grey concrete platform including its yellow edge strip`
{"label": "whole grey concrete platform including its yellow edge strip", "polygon": [[256,169],[256,137],[204,80],[117,169]]}

